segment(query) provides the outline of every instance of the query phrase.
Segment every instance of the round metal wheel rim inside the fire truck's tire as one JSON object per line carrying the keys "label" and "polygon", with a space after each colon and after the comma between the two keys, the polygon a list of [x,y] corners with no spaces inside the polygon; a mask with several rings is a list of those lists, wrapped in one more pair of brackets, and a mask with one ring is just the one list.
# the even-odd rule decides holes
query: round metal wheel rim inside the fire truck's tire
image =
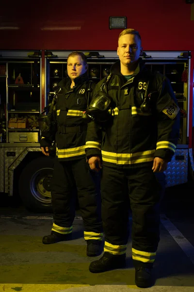
{"label": "round metal wheel rim inside the fire truck's tire", "polygon": [[44,205],[51,205],[51,179],[53,168],[38,169],[31,178],[32,196]]}

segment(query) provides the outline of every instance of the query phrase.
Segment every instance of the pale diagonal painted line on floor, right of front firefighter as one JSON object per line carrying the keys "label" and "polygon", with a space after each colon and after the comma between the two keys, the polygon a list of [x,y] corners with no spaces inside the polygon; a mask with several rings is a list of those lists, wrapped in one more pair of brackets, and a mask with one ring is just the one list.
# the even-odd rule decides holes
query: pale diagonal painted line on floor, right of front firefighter
{"label": "pale diagonal painted line on floor, right of front firefighter", "polygon": [[161,222],[173,239],[178,243],[179,247],[183,250],[192,263],[194,264],[194,246],[185,238],[177,227],[165,216],[161,215]]}

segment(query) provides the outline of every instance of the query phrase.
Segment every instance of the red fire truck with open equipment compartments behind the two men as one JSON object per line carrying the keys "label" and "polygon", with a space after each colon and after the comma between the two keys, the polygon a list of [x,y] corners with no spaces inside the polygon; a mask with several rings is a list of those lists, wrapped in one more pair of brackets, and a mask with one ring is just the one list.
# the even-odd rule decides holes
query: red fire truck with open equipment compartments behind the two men
{"label": "red fire truck with open equipment compartments behind the two men", "polygon": [[[67,75],[67,56],[83,52],[88,77],[98,82],[118,60],[117,39],[126,27],[142,35],[147,68],[169,78],[181,111],[178,146],[165,171],[166,187],[194,179],[194,4],[163,0],[156,9],[155,1],[149,0],[143,10],[131,3],[131,14],[123,8],[128,1],[122,8],[103,3],[103,9],[99,3],[94,9],[89,1],[88,5],[75,2],[62,4],[56,15],[49,6],[42,15],[44,1],[38,6],[27,4],[25,15],[17,6],[8,10],[5,3],[0,18],[0,193],[13,196],[18,191],[23,204],[35,212],[51,210],[53,170],[53,158],[40,149],[38,117]],[[164,4],[168,11],[176,8],[176,17],[164,13]],[[67,10],[77,15],[75,20],[71,13],[64,17]],[[157,27],[149,20],[153,15]],[[163,27],[164,18],[168,29]]]}

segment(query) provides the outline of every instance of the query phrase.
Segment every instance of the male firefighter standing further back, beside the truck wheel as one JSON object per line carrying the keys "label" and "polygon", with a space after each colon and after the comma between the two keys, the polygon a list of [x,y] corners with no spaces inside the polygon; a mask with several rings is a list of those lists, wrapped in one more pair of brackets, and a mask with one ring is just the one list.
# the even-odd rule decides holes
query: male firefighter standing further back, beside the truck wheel
{"label": "male firefighter standing further back, beside the truck wheel", "polygon": [[[75,201],[72,195],[76,185],[87,256],[98,256],[101,251],[102,222],[101,200],[91,170],[85,158],[87,124],[82,113],[87,108],[88,91],[94,89],[87,77],[86,57],[82,52],[72,52],[67,58],[68,77],[58,84],[56,105],[56,133],[41,139],[41,150],[49,156],[55,135],[56,159],[51,184],[53,225],[51,234],[44,236],[44,244],[71,239],[75,217]],[[89,89],[89,84],[90,89]],[[54,109],[54,107],[53,107]],[[53,127],[52,127],[53,128]]]}

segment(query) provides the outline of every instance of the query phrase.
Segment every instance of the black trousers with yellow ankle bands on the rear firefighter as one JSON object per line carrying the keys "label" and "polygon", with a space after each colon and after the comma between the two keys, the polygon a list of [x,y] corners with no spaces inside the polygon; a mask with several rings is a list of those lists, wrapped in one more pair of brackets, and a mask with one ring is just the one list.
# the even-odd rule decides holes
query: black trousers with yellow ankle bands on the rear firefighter
{"label": "black trousers with yellow ankle bands on the rear firefighter", "polygon": [[84,239],[102,239],[100,177],[95,181],[94,175],[85,158],[67,162],[55,159],[51,182],[52,231],[64,235],[72,232],[77,188]]}

